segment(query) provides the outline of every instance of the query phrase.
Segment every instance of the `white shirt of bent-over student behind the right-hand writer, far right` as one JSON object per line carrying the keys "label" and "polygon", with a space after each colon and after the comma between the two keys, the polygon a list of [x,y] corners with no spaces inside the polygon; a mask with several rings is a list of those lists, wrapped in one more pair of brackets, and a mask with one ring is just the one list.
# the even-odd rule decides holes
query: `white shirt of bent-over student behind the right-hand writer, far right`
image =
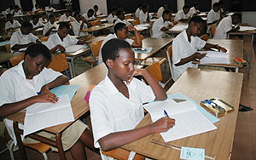
{"label": "white shirt of bent-over student behind the right-hand writer, far right", "polygon": [[232,30],[232,18],[231,16],[225,17],[222,19],[214,33],[213,39],[226,39],[227,37],[227,32]]}

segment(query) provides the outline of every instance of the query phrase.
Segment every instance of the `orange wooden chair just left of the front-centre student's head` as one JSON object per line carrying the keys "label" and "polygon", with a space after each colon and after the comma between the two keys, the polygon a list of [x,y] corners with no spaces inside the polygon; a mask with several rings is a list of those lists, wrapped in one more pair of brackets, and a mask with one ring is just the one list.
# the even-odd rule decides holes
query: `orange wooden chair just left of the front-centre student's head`
{"label": "orange wooden chair just left of the front-centre student's head", "polygon": [[103,42],[103,40],[97,41],[94,43],[90,43],[91,55],[82,58],[83,60],[89,62],[92,67],[93,67],[93,65],[97,65],[97,63],[98,63],[98,56],[100,53],[102,42]]}

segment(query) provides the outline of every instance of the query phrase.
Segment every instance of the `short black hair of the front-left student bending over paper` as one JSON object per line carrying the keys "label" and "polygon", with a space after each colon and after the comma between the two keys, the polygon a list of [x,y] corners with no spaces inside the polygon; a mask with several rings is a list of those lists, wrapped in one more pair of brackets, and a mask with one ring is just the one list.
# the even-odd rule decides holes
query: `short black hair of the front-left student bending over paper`
{"label": "short black hair of the front-left student bending over paper", "polygon": [[31,46],[29,46],[24,54],[24,59],[26,57],[26,54],[28,54],[31,58],[34,58],[40,54],[44,56],[45,60],[50,60],[51,55],[49,52],[49,49],[44,44],[34,43]]}

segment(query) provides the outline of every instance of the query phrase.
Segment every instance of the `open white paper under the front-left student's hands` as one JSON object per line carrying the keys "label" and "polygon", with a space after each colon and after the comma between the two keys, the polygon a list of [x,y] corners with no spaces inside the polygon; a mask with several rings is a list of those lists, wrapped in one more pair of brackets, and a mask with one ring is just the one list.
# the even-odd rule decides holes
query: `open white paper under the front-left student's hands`
{"label": "open white paper under the front-left student's hands", "polygon": [[74,117],[68,95],[61,95],[55,104],[36,103],[26,108],[23,135],[26,136],[40,129],[72,121],[74,121]]}

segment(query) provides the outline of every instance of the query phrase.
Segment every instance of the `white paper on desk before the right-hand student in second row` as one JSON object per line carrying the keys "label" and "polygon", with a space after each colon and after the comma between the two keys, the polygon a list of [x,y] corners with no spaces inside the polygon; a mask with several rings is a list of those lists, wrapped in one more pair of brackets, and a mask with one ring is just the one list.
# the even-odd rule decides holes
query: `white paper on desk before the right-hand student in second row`
{"label": "white paper on desk before the right-hand student in second row", "polygon": [[230,64],[228,54],[216,51],[200,51],[199,53],[207,53],[207,56],[200,60],[202,65],[205,64]]}

